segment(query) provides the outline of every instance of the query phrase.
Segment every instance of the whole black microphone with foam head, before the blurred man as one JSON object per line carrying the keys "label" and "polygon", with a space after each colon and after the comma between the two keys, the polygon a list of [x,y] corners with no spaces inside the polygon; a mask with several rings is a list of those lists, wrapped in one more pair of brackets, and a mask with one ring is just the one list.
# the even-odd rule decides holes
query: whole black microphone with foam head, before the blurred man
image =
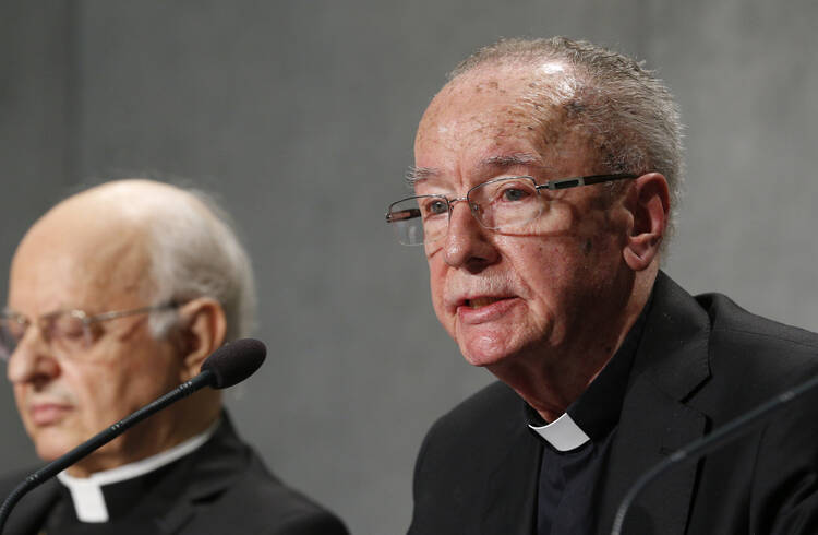
{"label": "whole black microphone with foam head, before the blurred man", "polygon": [[135,413],[125,416],[108,429],[95,435],[82,444],[77,445],[64,455],[55,459],[34,474],[25,478],[11,491],[9,497],[0,506],[0,533],[3,531],[5,521],[12,508],[28,491],[43,485],[63,469],[76,463],[93,451],[107,444],[128,429],[144,420],[148,416],[161,411],[182,397],[187,397],[205,387],[215,390],[226,389],[240,383],[261,368],[267,348],[264,343],[253,338],[241,338],[222,345],[202,364],[200,373],[183,382],[161,397],[151,402]]}

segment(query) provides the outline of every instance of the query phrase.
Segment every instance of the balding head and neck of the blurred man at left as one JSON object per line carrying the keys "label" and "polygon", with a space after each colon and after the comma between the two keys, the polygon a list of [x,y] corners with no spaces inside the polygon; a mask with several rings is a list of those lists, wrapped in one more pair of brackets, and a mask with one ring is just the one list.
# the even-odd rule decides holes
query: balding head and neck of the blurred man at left
{"label": "balding head and neck of the blurred man at left", "polygon": [[[8,307],[32,324],[8,376],[39,455],[64,453],[196,374],[226,338],[243,334],[252,294],[246,253],[201,194],[130,179],[51,209],[17,248]],[[107,312],[123,314],[95,319]],[[91,320],[67,329],[63,320],[77,317]],[[155,454],[201,432],[219,411],[218,393],[202,391],[73,469]]]}

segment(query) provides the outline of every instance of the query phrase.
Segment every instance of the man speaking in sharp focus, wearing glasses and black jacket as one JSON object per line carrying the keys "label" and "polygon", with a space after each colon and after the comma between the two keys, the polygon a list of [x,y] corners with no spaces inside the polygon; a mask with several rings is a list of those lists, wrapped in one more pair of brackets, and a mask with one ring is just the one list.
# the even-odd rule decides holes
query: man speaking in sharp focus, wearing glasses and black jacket
{"label": "man speaking in sharp focus, wearing glasses and black jacket", "polygon": [[[676,106],[634,60],[565,38],[462,62],[418,129],[432,302],[500,382],[443,416],[411,535],[608,533],[670,452],[818,371],[818,336],[694,298],[659,270],[681,179]],[[818,397],[667,473],[624,533],[818,533]]]}

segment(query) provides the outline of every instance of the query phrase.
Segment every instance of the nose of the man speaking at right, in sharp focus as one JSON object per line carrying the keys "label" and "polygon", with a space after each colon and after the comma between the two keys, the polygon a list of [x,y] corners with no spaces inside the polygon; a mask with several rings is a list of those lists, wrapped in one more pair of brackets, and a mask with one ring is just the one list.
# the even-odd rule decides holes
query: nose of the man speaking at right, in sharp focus
{"label": "nose of the man speaking at right, in sharp focus", "polygon": [[472,273],[480,272],[500,258],[489,230],[472,216],[467,202],[458,202],[452,207],[443,254],[449,266],[464,268]]}

